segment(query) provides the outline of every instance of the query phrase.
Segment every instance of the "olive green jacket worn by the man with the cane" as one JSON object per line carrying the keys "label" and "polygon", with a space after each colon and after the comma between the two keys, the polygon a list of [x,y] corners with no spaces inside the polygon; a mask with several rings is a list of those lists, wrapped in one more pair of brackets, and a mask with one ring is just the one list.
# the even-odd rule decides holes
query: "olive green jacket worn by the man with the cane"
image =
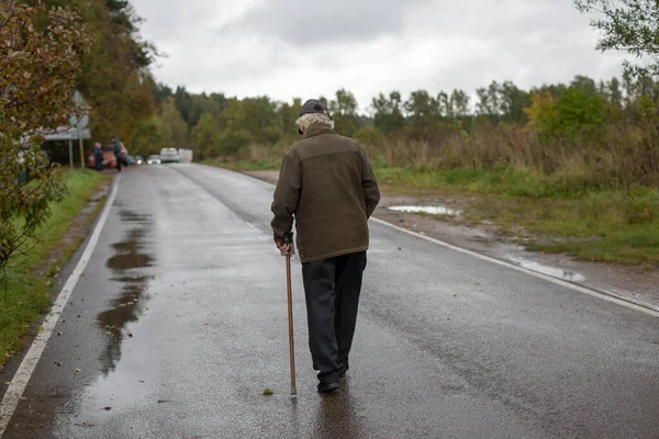
{"label": "olive green jacket worn by the man with the cane", "polygon": [[294,216],[303,263],[367,250],[367,221],[379,201],[364,148],[312,125],[281,164],[271,206],[275,240],[291,235]]}

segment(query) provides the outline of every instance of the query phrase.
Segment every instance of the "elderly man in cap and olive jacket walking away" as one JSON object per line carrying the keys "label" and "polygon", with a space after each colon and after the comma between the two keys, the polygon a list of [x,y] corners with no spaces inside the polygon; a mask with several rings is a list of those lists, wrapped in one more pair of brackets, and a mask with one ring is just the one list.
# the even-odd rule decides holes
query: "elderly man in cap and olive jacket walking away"
{"label": "elderly man in cap and olive jacket walking away", "polygon": [[297,123],[304,138],[283,157],[271,225],[281,255],[293,255],[295,218],[309,347],[320,371],[319,392],[331,393],[349,365],[369,245],[367,221],[380,191],[366,151],[333,131],[322,102],[306,101]]}

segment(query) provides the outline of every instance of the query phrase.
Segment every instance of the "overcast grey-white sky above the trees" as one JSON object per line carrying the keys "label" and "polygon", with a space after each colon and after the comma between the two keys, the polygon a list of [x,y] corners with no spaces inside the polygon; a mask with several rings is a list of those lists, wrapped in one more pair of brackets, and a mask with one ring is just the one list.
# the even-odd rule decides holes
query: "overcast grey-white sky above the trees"
{"label": "overcast grey-white sky above the trees", "polygon": [[142,35],[167,54],[172,88],[280,101],[344,87],[366,111],[378,92],[492,80],[522,88],[610,79],[621,54],[596,50],[572,0],[132,0]]}

